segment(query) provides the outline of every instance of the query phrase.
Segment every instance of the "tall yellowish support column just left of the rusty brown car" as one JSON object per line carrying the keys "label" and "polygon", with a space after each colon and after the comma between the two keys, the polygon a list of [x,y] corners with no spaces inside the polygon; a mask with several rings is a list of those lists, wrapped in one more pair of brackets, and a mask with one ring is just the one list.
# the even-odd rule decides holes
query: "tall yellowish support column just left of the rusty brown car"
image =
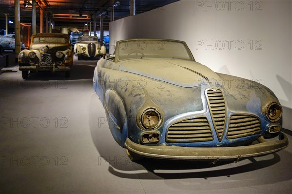
{"label": "tall yellowish support column just left of the rusty brown car", "polygon": [[20,0],[14,0],[15,62],[20,53]]}

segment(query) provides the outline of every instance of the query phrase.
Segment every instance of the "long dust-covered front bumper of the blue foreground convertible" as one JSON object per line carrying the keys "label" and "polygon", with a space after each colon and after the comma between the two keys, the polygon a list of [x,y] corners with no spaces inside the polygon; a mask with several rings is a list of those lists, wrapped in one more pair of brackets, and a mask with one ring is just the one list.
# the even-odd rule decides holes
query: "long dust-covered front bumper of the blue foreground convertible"
{"label": "long dust-covered front bumper of the blue foreground convertible", "polygon": [[177,160],[217,160],[256,157],[280,151],[288,146],[288,139],[283,133],[279,134],[279,140],[266,141],[263,137],[259,137],[258,142],[258,144],[238,147],[147,146],[134,143],[127,138],[125,146],[130,152],[139,156]]}

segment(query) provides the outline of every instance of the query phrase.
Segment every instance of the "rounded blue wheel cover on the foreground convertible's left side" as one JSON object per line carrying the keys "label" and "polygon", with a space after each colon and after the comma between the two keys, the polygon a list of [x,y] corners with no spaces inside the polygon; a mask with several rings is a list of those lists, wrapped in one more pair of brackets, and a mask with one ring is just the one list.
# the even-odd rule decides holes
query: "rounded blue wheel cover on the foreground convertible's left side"
{"label": "rounded blue wheel cover on the foreground convertible's left side", "polygon": [[127,138],[127,117],[124,102],[114,90],[105,92],[104,102],[110,132],[114,140],[122,147]]}

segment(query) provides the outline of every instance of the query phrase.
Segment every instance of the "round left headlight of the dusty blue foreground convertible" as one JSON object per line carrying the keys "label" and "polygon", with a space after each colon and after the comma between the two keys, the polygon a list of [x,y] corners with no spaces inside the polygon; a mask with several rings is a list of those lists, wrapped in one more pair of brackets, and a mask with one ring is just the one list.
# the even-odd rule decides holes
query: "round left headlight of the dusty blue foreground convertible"
{"label": "round left headlight of the dusty blue foreground convertible", "polygon": [[148,130],[156,128],[160,124],[160,121],[160,113],[154,108],[146,109],[140,117],[142,126]]}

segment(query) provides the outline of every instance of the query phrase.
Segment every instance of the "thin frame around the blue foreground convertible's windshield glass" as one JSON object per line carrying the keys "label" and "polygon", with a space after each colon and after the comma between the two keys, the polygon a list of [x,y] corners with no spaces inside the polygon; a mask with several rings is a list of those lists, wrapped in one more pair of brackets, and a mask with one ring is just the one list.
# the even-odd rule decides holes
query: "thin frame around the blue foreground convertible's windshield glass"
{"label": "thin frame around the blue foreground convertible's windshield glass", "polygon": [[[177,42],[177,43],[181,43],[183,44],[184,48],[187,51],[187,54],[189,55],[190,59],[182,59],[182,58],[174,58],[174,59],[181,59],[181,60],[188,60],[188,61],[195,61],[195,58],[191,52],[191,50],[188,48],[187,44],[184,41],[180,41],[180,40],[172,40],[172,39],[126,39],[126,40],[120,40],[117,41],[116,44],[116,48],[115,48],[115,52],[116,52],[116,62],[118,61],[125,61],[125,60],[133,60],[133,59],[140,59],[140,58],[130,58],[130,59],[120,59],[120,49],[119,46],[121,43],[123,42],[130,42],[130,41],[155,41],[155,42],[159,42],[159,41],[170,41],[170,42]],[[167,59],[167,57],[145,57],[145,58],[141,58],[141,59],[155,59],[155,58],[165,58]],[[173,58],[169,58],[169,59],[173,59]]]}

